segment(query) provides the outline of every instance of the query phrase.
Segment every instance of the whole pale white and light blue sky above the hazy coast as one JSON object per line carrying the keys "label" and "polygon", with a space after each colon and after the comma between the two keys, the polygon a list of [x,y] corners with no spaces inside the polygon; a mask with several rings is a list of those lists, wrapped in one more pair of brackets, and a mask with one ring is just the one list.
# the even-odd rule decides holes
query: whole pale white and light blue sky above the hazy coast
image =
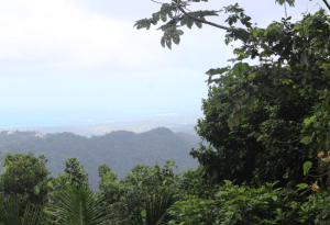
{"label": "whole pale white and light blue sky above the hazy coast", "polygon": [[[209,0],[187,8],[221,10],[235,2],[258,27],[285,18],[284,5],[274,0]],[[179,45],[163,48],[163,32],[157,29],[164,22],[148,31],[133,27],[135,21],[160,11],[162,4],[151,0],[0,3],[0,127],[78,112],[202,113],[201,99],[208,97],[206,71],[232,65],[227,60],[241,46],[240,41],[227,46],[224,30],[204,24],[202,29],[180,27],[185,33]],[[307,10],[326,9],[322,0],[299,0],[295,5],[286,8],[292,22],[301,20]],[[229,26],[228,16],[220,12],[206,20]],[[258,64],[257,59],[244,61]]]}

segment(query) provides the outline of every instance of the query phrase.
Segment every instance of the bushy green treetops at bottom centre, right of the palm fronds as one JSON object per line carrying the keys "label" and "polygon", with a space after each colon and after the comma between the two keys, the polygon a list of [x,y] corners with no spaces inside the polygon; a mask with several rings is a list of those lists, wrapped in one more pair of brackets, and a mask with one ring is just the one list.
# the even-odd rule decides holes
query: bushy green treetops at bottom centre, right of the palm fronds
{"label": "bushy green treetops at bottom centre, right of the palm fronds", "polygon": [[[189,169],[183,175],[174,175],[170,167],[176,164],[167,160],[162,167],[138,164],[120,182],[117,175],[107,165],[99,166],[100,194],[106,199],[101,205],[109,224],[153,224],[152,221],[173,218],[165,209],[185,194],[209,195],[209,189],[202,181],[204,168]],[[106,172],[107,171],[107,172]],[[103,173],[106,172],[106,173]],[[174,198],[173,193],[177,195]],[[163,222],[164,222],[163,221]]]}

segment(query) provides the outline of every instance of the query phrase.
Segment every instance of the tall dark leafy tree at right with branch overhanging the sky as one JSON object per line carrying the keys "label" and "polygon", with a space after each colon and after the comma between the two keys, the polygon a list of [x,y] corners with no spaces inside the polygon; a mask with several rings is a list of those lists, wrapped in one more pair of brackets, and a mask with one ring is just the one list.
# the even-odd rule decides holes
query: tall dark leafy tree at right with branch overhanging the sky
{"label": "tall dark leafy tree at right with branch overhanging the sky", "polygon": [[[277,2],[283,4],[286,1]],[[323,2],[330,10],[328,2]],[[294,1],[288,3],[294,5]],[[209,120],[200,122],[199,135],[209,140],[217,153],[212,151],[211,146],[208,149],[201,146],[199,151],[191,150],[191,155],[206,167],[207,178],[210,178],[211,173],[218,178],[218,181],[223,180],[226,176],[238,178],[240,182],[245,178],[254,185],[261,185],[270,180],[279,180],[280,187],[285,183],[284,178],[289,181],[288,185],[293,187],[301,181],[302,172],[307,172],[310,165],[319,160],[318,180],[322,187],[328,182],[328,187],[324,185],[322,190],[326,191],[324,193],[328,191],[330,195],[330,177],[327,171],[330,164],[330,123],[327,114],[329,112],[330,21],[324,15],[324,10],[320,10],[315,15],[305,15],[304,20],[296,24],[289,23],[290,18],[288,18],[283,19],[282,23],[273,22],[264,30],[252,27],[249,22],[251,18],[246,16],[244,10],[239,9],[238,4],[226,8],[226,12],[234,13],[226,22],[232,25],[240,20],[248,27],[245,31],[209,23],[204,19],[205,11],[186,13],[183,10],[186,5],[187,2],[173,0],[170,5],[162,4],[161,11],[154,13],[153,19],[136,21],[135,25],[138,29],[148,30],[151,23],[154,25],[157,23],[160,15],[164,22],[168,15],[172,21],[160,29],[164,31],[161,44],[165,47],[166,42],[167,47],[170,48],[170,38],[178,44],[179,35],[183,34],[182,31],[176,30],[178,21],[184,25],[183,21],[189,20],[187,25],[189,29],[194,22],[210,24],[229,32],[226,35],[227,45],[238,38],[243,42],[241,48],[234,49],[234,54],[239,57],[229,60],[234,63],[258,56],[262,63],[261,66],[252,67],[241,61],[233,68],[207,71],[208,83],[216,82],[219,87],[211,87],[210,101],[204,102],[205,114]],[[184,15],[173,16],[172,12],[178,10]],[[215,15],[216,11],[212,11],[212,14]],[[198,26],[201,27],[201,24]],[[273,58],[267,59],[272,55],[279,55],[279,58],[273,63]],[[287,65],[282,67],[285,60]],[[224,72],[227,74],[219,79],[212,79],[212,76]],[[224,124],[228,124],[228,127],[224,127]],[[250,154],[251,151],[254,153]],[[252,157],[252,160],[249,157]],[[301,167],[307,160],[309,166]],[[239,176],[233,175],[240,169]],[[317,193],[321,191],[317,182],[311,185],[300,183],[297,187],[299,189],[311,187],[311,190]],[[316,201],[312,206],[315,203]],[[328,205],[329,201],[324,199],[321,204],[323,212],[328,212]],[[318,216],[315,223],[322,224],[329,221],[327,213],[321,217],[319,220]]]}

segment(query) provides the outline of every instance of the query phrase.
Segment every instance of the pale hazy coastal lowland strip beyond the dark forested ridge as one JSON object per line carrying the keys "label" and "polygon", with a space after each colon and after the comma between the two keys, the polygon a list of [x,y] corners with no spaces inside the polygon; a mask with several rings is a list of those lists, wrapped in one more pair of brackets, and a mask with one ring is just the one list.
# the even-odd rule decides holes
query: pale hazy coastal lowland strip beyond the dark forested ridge
{"label": "pale hazy coastal lowland strip beyond the dark forested ridge", "polygon": [[[77,135],[91,137],[92,135],[105,135],[113,131],[131,131],[134,133],[143,133],[151,131],[156,127],[167,127],[173,132],[184,132],[190,135],[196,135],[194,127],[197,125],[197,120],[202,117],[199,112],[178,112],[178,113],[148,113],[136,114],[136,112],[120,112],[109,116],[109,113],[82,113],[82,114],[68,114],[67,117],[54,117],[48,119],[44,124],[52,124],[55,119],[58,124],[57,126],[15,126],[0,128],[0,131],[35,131],[37,133],[63,133],[72,132]],[[112,122],[102,122],[109,121]],[[63,120],[63,121],[61,121]],[[70,120],[70,121],[68,121]],[[52,123],[51,123],[52,122]],[[70,122],[70,123],[68,123]],[[15,123],[13,123],[15,124]],[[25,124],[38,124],[26,122]]]}

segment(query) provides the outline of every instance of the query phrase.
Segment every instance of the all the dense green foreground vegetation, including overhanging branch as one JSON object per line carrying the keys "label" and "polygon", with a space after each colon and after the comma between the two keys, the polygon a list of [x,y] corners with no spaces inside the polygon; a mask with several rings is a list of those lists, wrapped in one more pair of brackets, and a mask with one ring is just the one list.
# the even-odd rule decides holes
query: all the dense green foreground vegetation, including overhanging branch
{"label": "all the dense green foreground vegetation, including overhanging branch", "polygon": [[[175,175],[170,160],[163,167],[136,165],[118,182],[103,164],[99,191],[92,193],[76,158],[68,158],[66,173],[55,179],[46,178],[44,157],[7,155],[1,192],[18,201],[6,209],[14,212],[10,205],[19,205],[20,211],[0,213],[0,223],[33,217],[31,204],[41,209],[33,214],[44,220],[40,224],[330,224],[329,16],[321,9],[295,24],[287,18],[258,29],[238,4],[224,8],[233,13],[226,22],[239,20],[244,30],[207,22],[205,16],[217,11],[186,12],[186,5],[180,0],[164,3],[135,25],[148,29],[168,15],[172,20],[161,26],[161,44],[168,48],[172,41],[179,43],[178,22],[189,29],[194,23],[224,29],[226,44],[243,42],[234,49],[239,57],[231,59],[239,63],[207,72],[213,86],[202,103],[206,119],[196,130],[210,145],[190,151],[199,167]],[[279,58],[267,59],[274,55]],[[242,63],[256,56],[258,66]]]}

